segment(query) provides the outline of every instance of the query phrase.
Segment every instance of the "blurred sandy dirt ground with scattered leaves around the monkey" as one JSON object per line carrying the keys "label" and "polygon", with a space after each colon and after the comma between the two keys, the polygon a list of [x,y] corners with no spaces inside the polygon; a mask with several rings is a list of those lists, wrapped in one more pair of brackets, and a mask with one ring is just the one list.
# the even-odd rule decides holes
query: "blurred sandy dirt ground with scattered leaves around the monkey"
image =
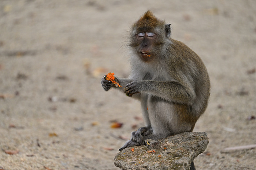
{"label": "blurred sandy dirt ground with scattered leaves around the monkey", "polygon": [[129,28],[148,9],[209,72],[197,170],[256,169],[256,148],[222,152],[256,144],[255,0],[0,0],[0,169],[118,169],[140,104],[100,80],[128,76]]}

